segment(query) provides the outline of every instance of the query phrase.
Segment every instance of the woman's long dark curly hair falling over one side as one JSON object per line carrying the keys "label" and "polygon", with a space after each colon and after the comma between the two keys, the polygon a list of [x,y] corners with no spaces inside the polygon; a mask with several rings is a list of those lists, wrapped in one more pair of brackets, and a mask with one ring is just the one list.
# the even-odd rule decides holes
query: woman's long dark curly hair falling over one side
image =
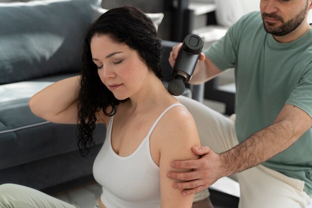
{"label": "woman's long dark curly hair falling over one side", "polygon": [[104,34],[136,50],[149,69],[159,79],[162,78],[161,40],[157,37],[156,28],[150,17],[131,6],[113,8],[102,14],[87,31],[82,52],[81,81],[77,100],[77,144],[83,157],[86,157],[95,146],[93,130],[98,113],[103,111],[105,115],[112,116],[116,113],[116,106],[125,101],[117,100],[103,84],[97,66],[92,61],[91,39],[94,35]]}

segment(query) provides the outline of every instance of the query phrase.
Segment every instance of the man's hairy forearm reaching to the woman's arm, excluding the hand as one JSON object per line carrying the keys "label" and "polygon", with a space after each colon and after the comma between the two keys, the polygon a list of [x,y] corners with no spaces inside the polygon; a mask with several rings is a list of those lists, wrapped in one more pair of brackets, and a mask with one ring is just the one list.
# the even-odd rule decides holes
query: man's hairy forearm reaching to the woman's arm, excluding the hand
{"label": "man's hairy forearm reaching to the woman's arm, excluding the hand", "polygon": [[286,150],[297,139],[288,122],[273,124],[252,135],[243,143],[221,153],[224,176],[259,165]]}

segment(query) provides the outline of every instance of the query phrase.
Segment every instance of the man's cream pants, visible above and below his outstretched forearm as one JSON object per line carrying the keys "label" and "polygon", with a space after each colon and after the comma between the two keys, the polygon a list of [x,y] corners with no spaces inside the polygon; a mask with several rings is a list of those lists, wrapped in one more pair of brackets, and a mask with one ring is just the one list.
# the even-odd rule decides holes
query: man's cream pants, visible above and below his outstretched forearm
{"label": "man's cream pants, visible above and below his outstretched forearm", "polygon": [[[184,96],[177,99],[193,115],[202,146],[208,146],[214,152],[221,153],[238,144],[233,119]],[[237,173],[230,178],[240,185],[239,208],[306,208],[311,202],[304,192],[305,182],[263,165]],[[208,196],[208,191],[204,190],[195,195],[194,202]]]}

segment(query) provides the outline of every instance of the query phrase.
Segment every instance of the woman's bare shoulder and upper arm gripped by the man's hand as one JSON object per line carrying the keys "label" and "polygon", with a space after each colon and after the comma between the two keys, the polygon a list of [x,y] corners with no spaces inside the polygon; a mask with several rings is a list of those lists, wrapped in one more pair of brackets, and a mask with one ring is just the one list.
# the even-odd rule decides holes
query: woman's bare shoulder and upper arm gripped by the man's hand
{"label": "woman's bare shoulder and upper arm gripped by the man's hand", "polygon": [[[183,106],[171,108],[159,121],[156,129],[151,135],[151,147],[156,146],[159,151],[159,158],[153,158],[159,165],[160,187],[161,187],[161,208],[190,208],[193,196],[182,196],[179,190],[172,187],[171,180],[166,177],[168,171],[173,171],[170,162],[173,160],[198,159],[191,148],[199,146],[199,136],[195,121],[191,114]],[[155,155],[152,152],[152,156]],[[178,172],[185,172],[186,169],[177,169]]]}

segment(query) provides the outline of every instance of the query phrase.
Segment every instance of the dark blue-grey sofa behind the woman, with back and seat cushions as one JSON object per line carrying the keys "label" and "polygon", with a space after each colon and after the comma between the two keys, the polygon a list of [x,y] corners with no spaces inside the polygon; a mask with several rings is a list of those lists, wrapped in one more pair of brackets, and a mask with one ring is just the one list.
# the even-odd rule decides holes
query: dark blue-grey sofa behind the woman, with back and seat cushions
{"label": "dark blue-grey sofa behind the woman, with back and seat cushions", "polygon": [[[0,3],[0,184],[51,194],[93,180],[105,126],[97,126],[96,146],[85,159],[76,144],[76,125],[36,117],[28,101],[45,86],[79,73],[84,32],[105,11],[99,5],[97,0]],[[162,14],[151,17],[157,25]],[[167,81],[167,57],[175,44],[163,41]],[[189,89],[185,94],[190,96]]]}

